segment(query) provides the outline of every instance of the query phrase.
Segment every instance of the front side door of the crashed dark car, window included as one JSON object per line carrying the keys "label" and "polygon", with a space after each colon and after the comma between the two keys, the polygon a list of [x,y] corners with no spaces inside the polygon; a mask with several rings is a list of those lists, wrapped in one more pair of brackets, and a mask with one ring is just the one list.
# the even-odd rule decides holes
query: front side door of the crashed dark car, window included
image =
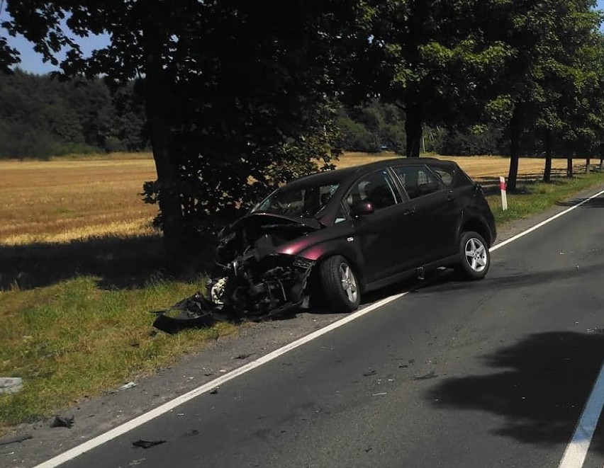
{"label": "front side door of the crashed dark car, window included", "polygon": [[362,253],[364,278],[374,282],[407,268],[401,255],[410,236],[410,225],[401,193],[388,169],[374,171],[354,182],[346,203],[369,201],[374,212],[353,219],[354,237]]}

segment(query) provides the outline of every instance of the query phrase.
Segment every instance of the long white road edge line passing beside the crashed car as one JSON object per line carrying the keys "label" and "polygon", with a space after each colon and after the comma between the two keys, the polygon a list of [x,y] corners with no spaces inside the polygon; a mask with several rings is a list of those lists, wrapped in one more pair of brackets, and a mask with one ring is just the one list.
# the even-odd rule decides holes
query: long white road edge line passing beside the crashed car
{"label": "long white road edge line passing beside the crashed car", "polygon": [[[526,231],[521,232],[520,234],[510,237],[510,239],[500,242],[500,244],[496,244],[495,246],[491,247],[490,250],[495,251],[495,250],[499,249],[500,247],[510,244],[510,242],[513,242],[516,239],[520,239],[520,237],[525,236],[526,234],[529,234],[530,232],[533,232],[536,229],[539,229],[539,227],[544,226],[545,224],[553,221],[554,219],[557,219],[558,217],[561,217],[562,215],[566,215],[566,213],[571,212],[576,207],[583,205],[583,203],[588,202],[592,198],[596,198],[599,195],[602,195],[603,193],[604,193],[604,190],[596,193],[595,195],[592,195],[590,198],[587,198],[586,200],[579,202],[577,205],[570,207],[568,210],[559,212],[557,215],[554,215],[554,216],[546,219],[545,221],[540,222],[539,224],[536,224],[535,226],[531,227],[530,229],[527,229]],[[406,294],[408,294],[408,292],[401,292],[400,294],[386,297],[385,299],[381,299],[381,301],[375,302],[374,304],[364,307],[363,309],[360,309],[357,312],[349,314],[349,315],[345,316],[343,319],[340,319],[338,321],[333,322],[332,324],[330,324],[328,326],[323,327],[323,329],[313,331],[313,333],[303,336],[302,338],[299,338],[298,340],[293,341],[293,343],[289,343],[286,346],[283,346],[282,348],[272,351],[272,353],[264,355],[261,358],[251,361],[250,363],[242,365],[242,367],[238,367],[237,369],[232,370],[231,372],[228,372],[227,374],[223,375],[222,377],[218,377],[218,379],[214,379],[211,382],[203,384],[203,385],[201,385],[201,387],[197,387],[196,389],[193,389],[190,392],[187,392],[186,394],[177,396],[177,398],[167,401],[166,403],[162,404],[161,406],[157,406],[157,408],[152,409],[151,411],[147,411],[147,413],[141,414],[140,416],[137,416],[136,418],[128,421],[127,423],[123,423],[120,426],[117,426],[116,428],[108,430],[106,433],[97,435],[95,438],[92,438],[91,440],[88,440],[80,445],[77,445],[76,447],[73,447],[72,449],[67,450],[67,452],[63,452],[60,455],[57,455],[56,457],[53,457],[50,460],[47,460],[46,462],[38,464],[34,468],[54,468],[54,467],[59,466],[62,463],[69,462],[69,460],[73,460],[75,457],[78,457],[79,455],[82,455],[83,453],[88,452],[89,450],[92,450],[95,447],[99,447],[99,445],[103,445],[104,443],[108,442],[109,440],[119,437],[120,435],[125,434],[125,433],[129,432],[130,430],[138,428],[138,426],[142,426],[143,424],[151,421],[152,419],[157,418],[158,416],[162,416],[162,414],[167,413],[168,411],[171,411],[172,409],[176,408],[177,406],[180,406],[181,404],[184,404],[187,401],[194,399],[196,396],[209,392],[211,389],[219,387],[220,385],[225,384],[226,382],[234,379],[235,377],[245,374],[246,372],[249,372],[250,370],[253,370],[256,367],[259,367],[263,364],[269,363],[270,361],[272,361],[276,358],[279,358],[279,356],[284,355],[285,353],[289,353],[289,351],[296,349],[299,346],[302,346],[303,344],[308,343],[309,341],[313,341],[315,338],[318,338],[319,336],[325,335],[325,333],[329,333],[332,330],[339,329],[340,326],[344,326],[345,324],[347,324],[353,320],[359,319],[359,317],[362,317],[365,314],[369,314],[369,312],[371,312],[375,309],[379,309],[379,307],[382,307],[382,306],[388,304],[389,302],[393,302],[396,299],[400,299],[401,297],[403,297]],[[600,375],[601,374],[602,374],[602,372],[600,372]],[[601,409],[601,405],[600,405],[600,409]],[[599,416],[599,413],[598,413],[598,416]],[[595,422],[597,423],[597,421],[598,420],[596,418]],[[593,430],[592,430],[592,433],[593,433]],[[590,440],[591,440],[591,437],[590,437]],[[588,442],[588,445],[589,445],[589,442]],[[559,467],[559,468],[571,468],[571,467],[578,468],[579,466],[580,465],[569,465],[569,466],[564,466],[564,467]]]}

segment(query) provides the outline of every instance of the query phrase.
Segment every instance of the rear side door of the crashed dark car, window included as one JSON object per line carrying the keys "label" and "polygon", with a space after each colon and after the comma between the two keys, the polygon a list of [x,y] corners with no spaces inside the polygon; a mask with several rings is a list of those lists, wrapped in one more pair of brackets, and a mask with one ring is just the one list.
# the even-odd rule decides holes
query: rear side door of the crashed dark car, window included
{"label": "rear side door of the crashed dark car, window included", "polygon": [[410,241],[416,246],[414,266],[440,260],[457,249],[459,204],[451,190],[425,164],[393,166],[409,201],[407,211],[413,215]]}

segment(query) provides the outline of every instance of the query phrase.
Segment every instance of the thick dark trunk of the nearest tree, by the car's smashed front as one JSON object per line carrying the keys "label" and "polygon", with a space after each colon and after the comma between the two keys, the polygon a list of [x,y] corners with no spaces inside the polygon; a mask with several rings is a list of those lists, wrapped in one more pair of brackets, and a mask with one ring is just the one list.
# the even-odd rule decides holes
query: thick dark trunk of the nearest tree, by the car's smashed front
{"label": "thick dark trunk of the nearest tree, by the car's smashed front", "polygon": [[145,29],[145,116],[150,130],[150,140],[157,171],[159,188],[158,202],[164,234],[164,248],[168,268],[180,273],[184,265],[183,222],[180,195],[177,188],[178,173],[169,154],[170,127],[167,113],[167,83],[164,83],[164,69],[160,59],[162,47],[158,28],[152,21],[152,13],[147,17]]}

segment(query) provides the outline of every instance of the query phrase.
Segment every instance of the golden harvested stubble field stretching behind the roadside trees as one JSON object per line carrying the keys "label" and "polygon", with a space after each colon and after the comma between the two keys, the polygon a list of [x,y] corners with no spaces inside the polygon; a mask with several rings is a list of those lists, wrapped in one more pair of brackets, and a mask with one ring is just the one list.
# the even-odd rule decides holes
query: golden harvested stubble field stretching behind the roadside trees
{"label": "golden harvested stubble field stretching behind the roadside trees", "polygon": [[[347,153],[337,167],[356,166],[396,154]],[[464,156],[454,159],[470,176],[495,183],[507,176],[509,159]],[[581,160],[577,160],[581,161]],[[581,161],[583,163],[583,161]],[[539,178],[542,159],[520,159],[520,178]],[[563,173],[566,160],[554,160],[554,173]],[[65,243],[107,235],[152,235],[157,212],[145,205],[144,181],[155,179],[149,154],[75,156],[51,161],[0,161],[0,243]]]}

